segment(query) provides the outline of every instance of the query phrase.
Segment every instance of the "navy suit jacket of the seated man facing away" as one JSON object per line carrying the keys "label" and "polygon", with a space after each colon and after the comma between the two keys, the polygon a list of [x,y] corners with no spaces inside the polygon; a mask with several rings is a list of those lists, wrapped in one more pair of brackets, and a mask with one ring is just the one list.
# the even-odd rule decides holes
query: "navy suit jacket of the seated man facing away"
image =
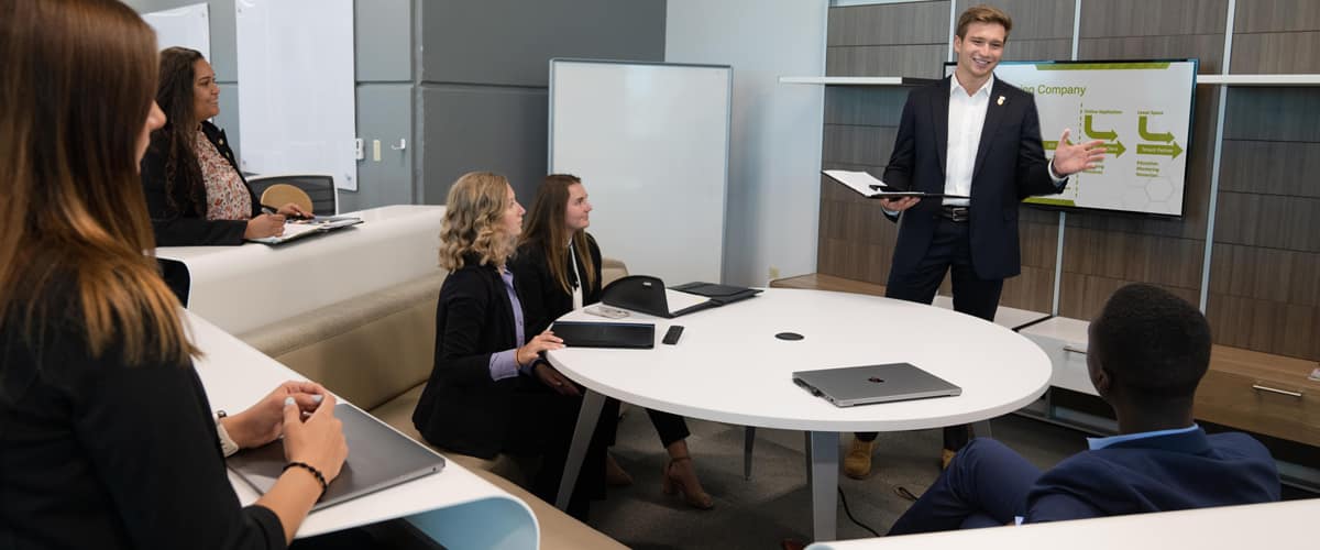
{"label": "navy suit jacket of the seated man facing away", "polygon": [[1044,472],[1027,522],[1279,500],[1270,452],[1246,434],[1203,430],[1078,452]]}

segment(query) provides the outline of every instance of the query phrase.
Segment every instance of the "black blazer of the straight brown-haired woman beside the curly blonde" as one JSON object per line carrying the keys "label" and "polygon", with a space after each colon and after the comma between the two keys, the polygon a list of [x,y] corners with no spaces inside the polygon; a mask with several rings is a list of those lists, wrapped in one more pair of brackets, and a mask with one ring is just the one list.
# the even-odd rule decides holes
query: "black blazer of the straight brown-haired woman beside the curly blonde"
{"label": "black blazer of the straight brown-haired woman beside the curly blonde", "polygon": [[[601,247],[595,239],[587,233],[587,253],[591,255],[595,284],[582,289],[582,305],[601,301]],[[586,273],[581,257],[577,260],[578,273]],[[565,269],[572,282],[573,268],[565,262]],[[554,319],[573,311],[573,294],[565,293],[554,276],[550,274],[550,264],[545,252],[537,243],[523,244],[517,249],[517,256],[510,261],[513,280],[519,284],[519,299],[523,301],[523,315],[527,324],[528,338],[541,334]],[[585,284],[583,284],[585,285]]]}

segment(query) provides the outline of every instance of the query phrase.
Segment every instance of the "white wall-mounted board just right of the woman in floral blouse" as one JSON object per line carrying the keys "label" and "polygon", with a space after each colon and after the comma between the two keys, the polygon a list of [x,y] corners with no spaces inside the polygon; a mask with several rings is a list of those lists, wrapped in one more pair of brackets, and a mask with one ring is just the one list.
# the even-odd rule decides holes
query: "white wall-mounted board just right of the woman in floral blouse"
{"label": "white wall-mounted board just right of the woman in floral blouse", "polygon": [[352,0],[238,0],[242,169],[358,189]]}

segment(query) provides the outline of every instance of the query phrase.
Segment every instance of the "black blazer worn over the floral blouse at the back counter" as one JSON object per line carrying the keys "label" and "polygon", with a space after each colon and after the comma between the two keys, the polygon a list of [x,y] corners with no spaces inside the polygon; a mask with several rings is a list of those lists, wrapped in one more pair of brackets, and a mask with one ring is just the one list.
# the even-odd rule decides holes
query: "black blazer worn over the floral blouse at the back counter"
{"label": "black blazer worn over the floral blouse at the back counter", "polygon": [[[230,140],[224,131],[215,124],[202,121],[202,133],[215,145],[215,149],[230,161],[234,171],[243,178],[234,150],[230,149]],[[166,195],[165,161],[169,158],[169,137],[165,132],[157,131],[152,135],[152,144],[143,157],[141,175],[143,193],[147,195],[147,211],[152,216],[152,229],[156,232],[157,247],[190,247],[199,244],[243,244],[243,232],[247,231],[247,220],[207,220],[206,219],[206,187],[183,189],[181,182],[174,182]],[[247,179],[243,178],[247,186]],[[252,195],[252,214],[256,218],[261,214],[261,204],[248,186]],[[173,199],[173,204],[170,206]]]}

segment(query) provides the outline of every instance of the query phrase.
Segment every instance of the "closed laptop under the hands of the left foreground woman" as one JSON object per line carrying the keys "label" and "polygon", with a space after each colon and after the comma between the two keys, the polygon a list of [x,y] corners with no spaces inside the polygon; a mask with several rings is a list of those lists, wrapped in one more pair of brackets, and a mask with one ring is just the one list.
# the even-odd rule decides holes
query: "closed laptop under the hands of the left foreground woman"
{"label": "closed laptop under the hands of the left foreground woman", "polygon": [[[339,476],[330,481],[326,493],[312,506],[313,510],[371,495],[445,467],[445,459],[438,454],[351,405],[339,404],[334,408],[334,415],[343,422],[348,460],[339,470]],[[239,477],[265,495],[288,463],[284,458],[284,439],[239,451],[227,462]]]}

